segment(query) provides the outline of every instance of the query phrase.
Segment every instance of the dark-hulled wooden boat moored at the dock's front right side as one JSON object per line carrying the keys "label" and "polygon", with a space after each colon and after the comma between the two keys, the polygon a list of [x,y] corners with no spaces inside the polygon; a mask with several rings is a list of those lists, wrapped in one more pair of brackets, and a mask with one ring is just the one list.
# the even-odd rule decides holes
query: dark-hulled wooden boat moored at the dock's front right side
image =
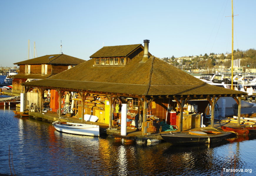
{"label": "dark-hulled wooden boat moored at the dock's front right side", "polygon": [[172,144],[207,144],[221,141],[229,136],[230,132],[217,131],[187,131],[177,133],[160,134],[164,141]]}

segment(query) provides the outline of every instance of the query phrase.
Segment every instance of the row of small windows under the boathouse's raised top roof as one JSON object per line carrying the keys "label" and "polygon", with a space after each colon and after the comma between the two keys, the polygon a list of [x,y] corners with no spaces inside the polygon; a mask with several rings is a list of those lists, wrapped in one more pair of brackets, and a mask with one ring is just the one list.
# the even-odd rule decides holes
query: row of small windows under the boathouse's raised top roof
{"label": "row of small windows under the boathouse's raised top roof", "polygon": [[124,57],[102,57],[102,58],[95,58],[94,65],[101,65],[101,66],[118,66],[118,65],[125,65]]}

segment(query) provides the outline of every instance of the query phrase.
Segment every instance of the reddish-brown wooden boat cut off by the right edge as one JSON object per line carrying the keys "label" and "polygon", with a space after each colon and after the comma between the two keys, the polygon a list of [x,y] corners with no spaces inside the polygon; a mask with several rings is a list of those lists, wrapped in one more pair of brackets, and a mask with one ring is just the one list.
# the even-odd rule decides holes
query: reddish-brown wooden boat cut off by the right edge
{"label": "reddish-brown wooden boat cut off by the right edge", "polygon": [[235,133],[236,135],[256,135],[256,127],[230,127],[230,126],[221,126],[223,131]]}

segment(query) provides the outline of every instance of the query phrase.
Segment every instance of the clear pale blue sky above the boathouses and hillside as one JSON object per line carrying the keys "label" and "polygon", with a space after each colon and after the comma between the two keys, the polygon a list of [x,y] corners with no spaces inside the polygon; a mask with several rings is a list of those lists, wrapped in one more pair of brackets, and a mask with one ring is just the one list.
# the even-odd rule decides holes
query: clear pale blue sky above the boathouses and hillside
{"label": "clear pale blue sky above the boathouses and hillside", "polygon": [[[231,0],[0,0],[2,66],[62,52],[84,60],[104,46],[143,44],[159,58],[231,53]],[[255,48],[255,0],[234,0],[234,49]]]}

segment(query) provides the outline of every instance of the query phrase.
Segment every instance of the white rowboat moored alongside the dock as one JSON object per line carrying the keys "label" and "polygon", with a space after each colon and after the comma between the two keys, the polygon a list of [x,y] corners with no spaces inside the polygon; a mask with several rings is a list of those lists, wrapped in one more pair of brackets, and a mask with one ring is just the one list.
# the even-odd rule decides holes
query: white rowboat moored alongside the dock
{"label": "white rowboat moored alongside the dock", "polygon": [[85,136],[99,136],[99,126],[83,123],[57,122],[54,128],[63,133],[78,134]]}

